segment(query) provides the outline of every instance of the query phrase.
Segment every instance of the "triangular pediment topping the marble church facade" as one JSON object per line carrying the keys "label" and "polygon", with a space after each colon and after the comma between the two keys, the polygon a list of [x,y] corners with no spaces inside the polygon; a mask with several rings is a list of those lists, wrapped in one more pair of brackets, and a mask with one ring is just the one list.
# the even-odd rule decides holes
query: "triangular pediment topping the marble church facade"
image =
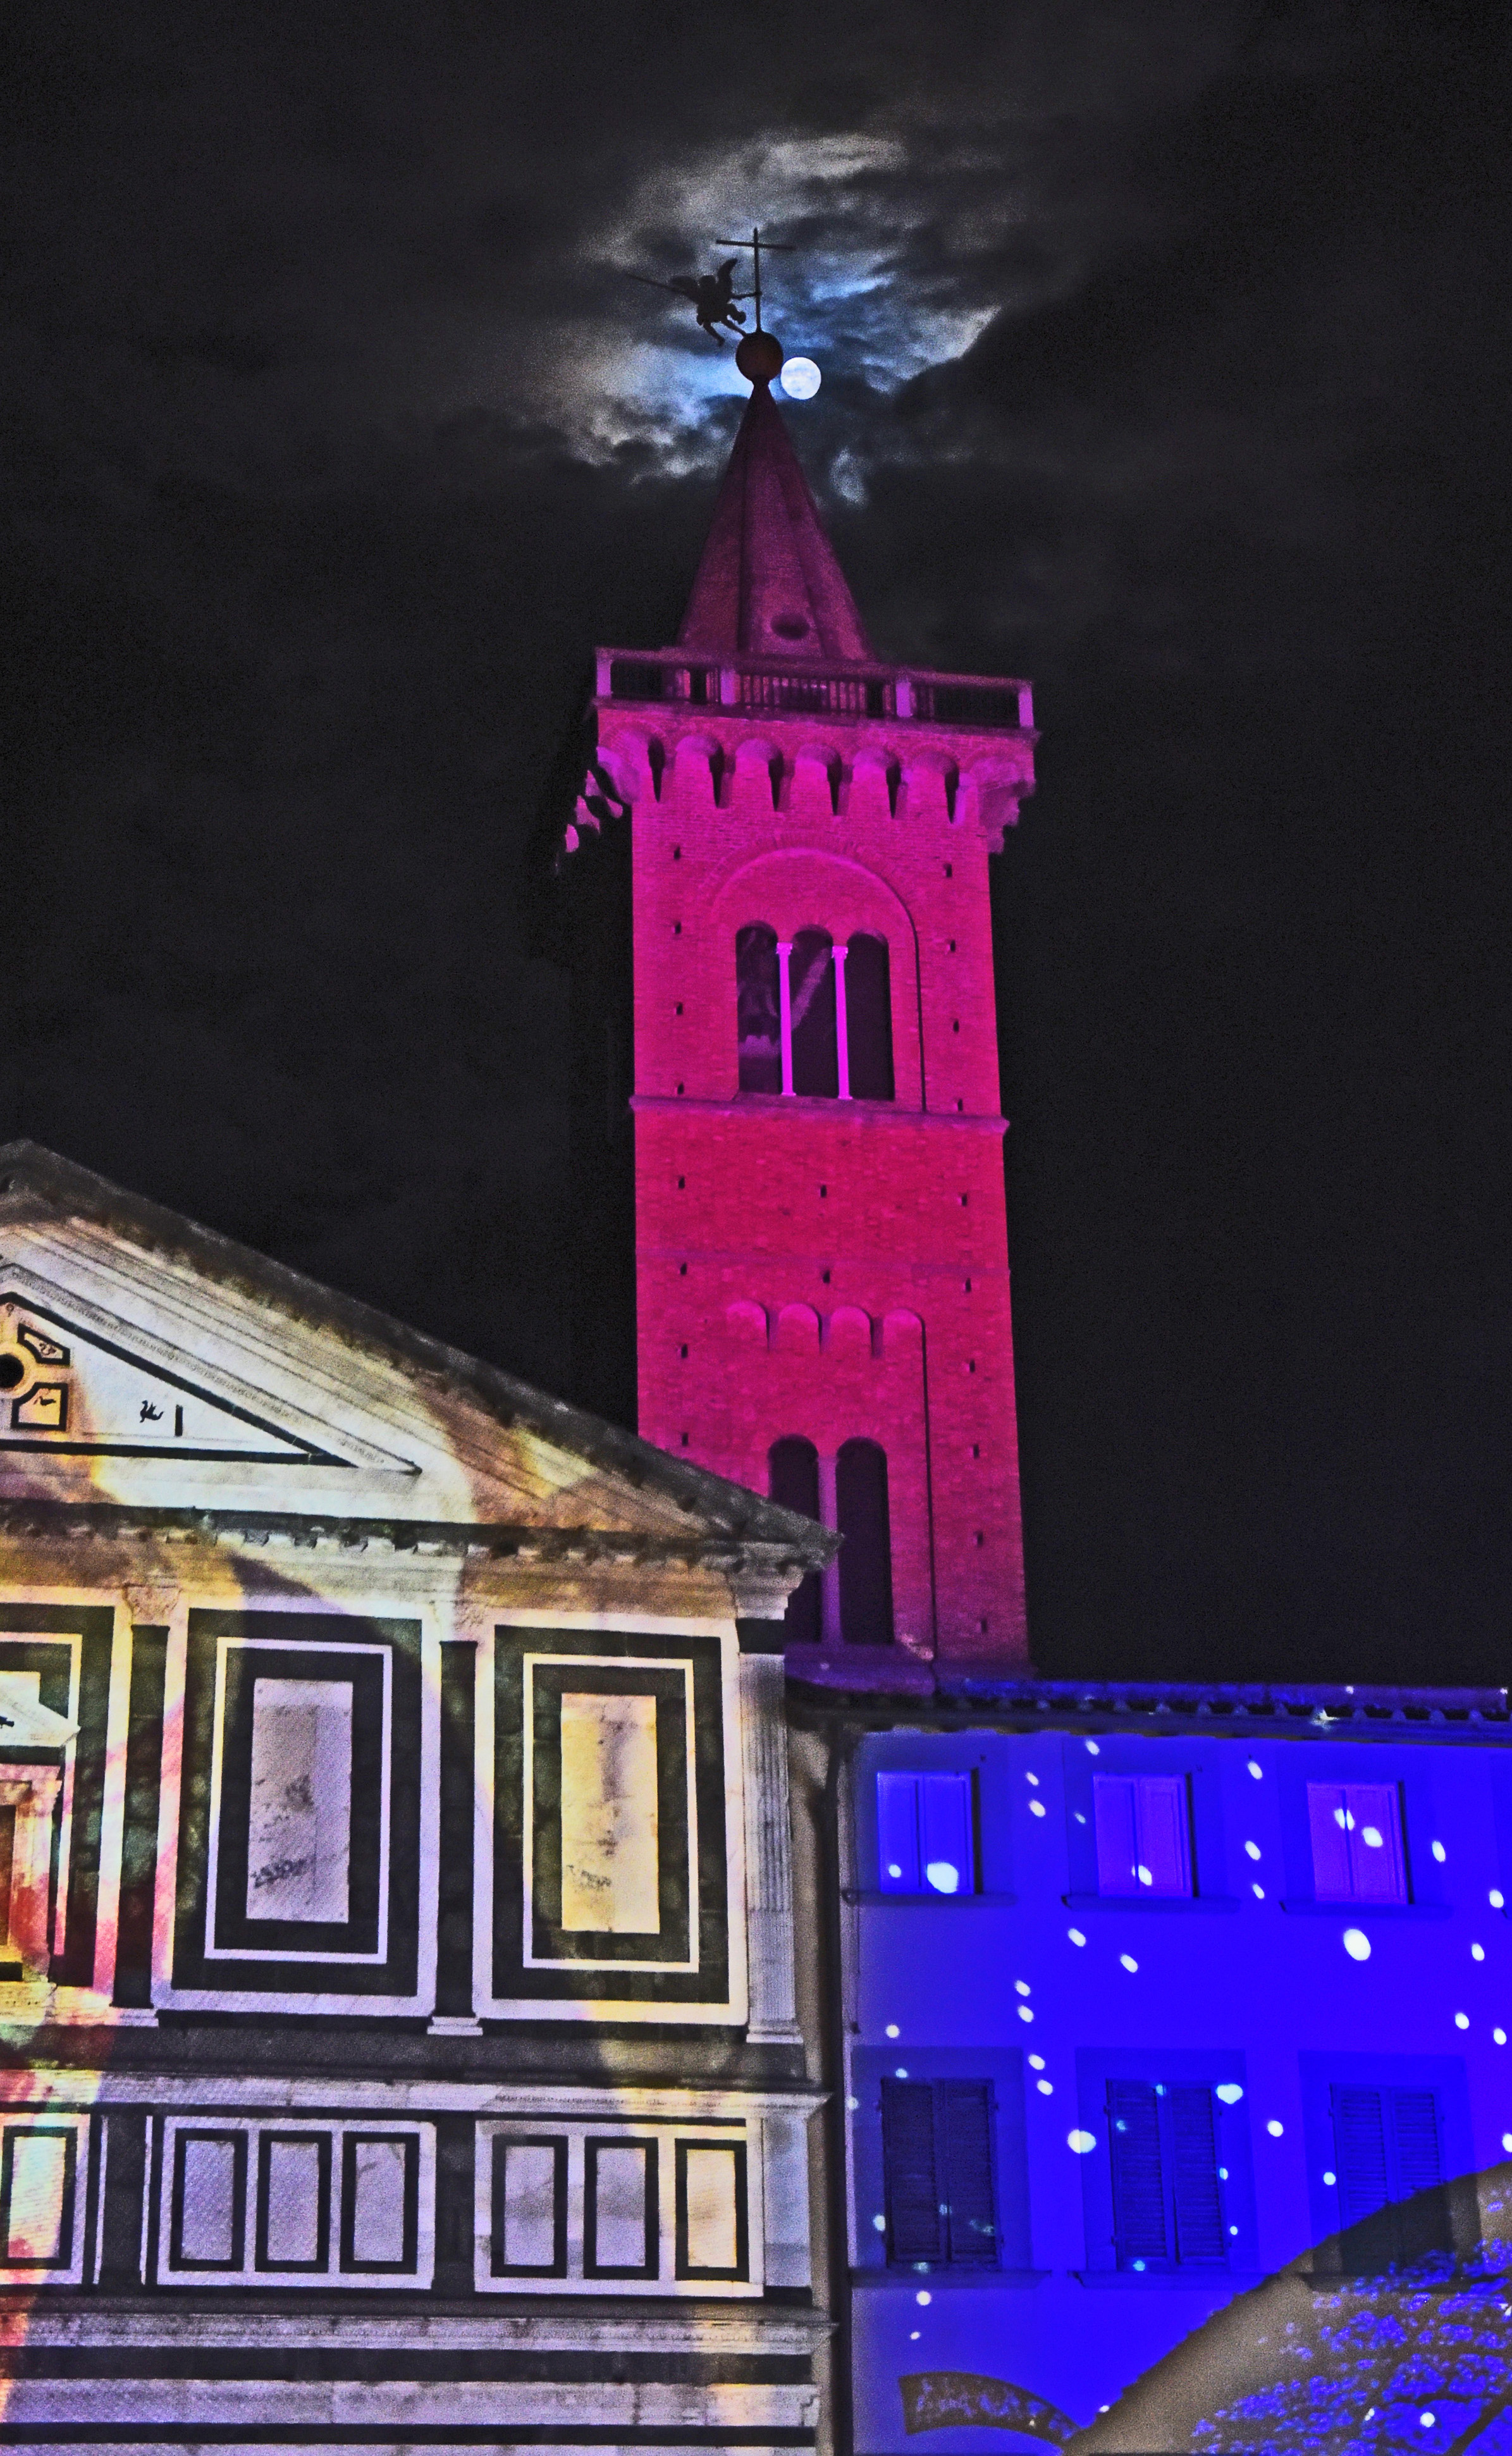
{"label": "triangular pediment topping the marble church facade", "polygon": [[34,1144],[0,1147],[7,1496],[309,1518],[358,1542],[486,1525],[832,1550],[771,1501]]}

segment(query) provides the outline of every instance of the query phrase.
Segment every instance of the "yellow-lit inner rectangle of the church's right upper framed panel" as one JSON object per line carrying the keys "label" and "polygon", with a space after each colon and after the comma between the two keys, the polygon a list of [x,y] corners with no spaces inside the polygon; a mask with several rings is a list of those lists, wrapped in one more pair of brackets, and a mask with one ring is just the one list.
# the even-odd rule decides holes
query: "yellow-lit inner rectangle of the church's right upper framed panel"
{"label": "yellow-lit inner rectangle of the church's right upper framed panel", "polygon": [[562,1692],[562,1928],[660,1930],[655,1697]]}

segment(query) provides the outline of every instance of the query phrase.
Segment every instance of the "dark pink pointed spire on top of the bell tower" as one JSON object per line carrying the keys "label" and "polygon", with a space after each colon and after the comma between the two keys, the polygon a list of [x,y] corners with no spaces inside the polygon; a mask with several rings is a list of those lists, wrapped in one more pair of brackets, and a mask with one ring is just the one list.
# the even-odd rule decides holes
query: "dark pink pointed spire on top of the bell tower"
{"label": "dark pink pointed spire on top of the bell tower", "polygon": [[707,656],[871,663],[871,641],[768,376],[754,376],[677,646]]}

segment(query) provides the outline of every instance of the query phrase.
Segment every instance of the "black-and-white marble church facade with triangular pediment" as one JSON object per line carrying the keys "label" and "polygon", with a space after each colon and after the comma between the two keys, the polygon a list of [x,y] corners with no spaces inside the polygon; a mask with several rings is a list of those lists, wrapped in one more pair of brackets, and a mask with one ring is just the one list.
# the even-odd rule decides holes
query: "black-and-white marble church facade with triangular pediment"
{"label": "black-and-white marble church facade with triangular pediment", "polygon": [[832,1540],[29,1147],[0,1395],[0,2441],[812,2444]]}

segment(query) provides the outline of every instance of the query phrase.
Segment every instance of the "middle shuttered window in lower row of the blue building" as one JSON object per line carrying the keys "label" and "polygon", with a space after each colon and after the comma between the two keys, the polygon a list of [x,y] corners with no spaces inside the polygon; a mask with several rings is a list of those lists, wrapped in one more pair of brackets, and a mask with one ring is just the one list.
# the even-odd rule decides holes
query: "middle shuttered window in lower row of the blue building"
{"label": "middle shuttered window in lower row of the blue building", "polygon": [[1107,2151],[1119,2269],[1227,2262],[1213,2090],[1109,2080]]}

